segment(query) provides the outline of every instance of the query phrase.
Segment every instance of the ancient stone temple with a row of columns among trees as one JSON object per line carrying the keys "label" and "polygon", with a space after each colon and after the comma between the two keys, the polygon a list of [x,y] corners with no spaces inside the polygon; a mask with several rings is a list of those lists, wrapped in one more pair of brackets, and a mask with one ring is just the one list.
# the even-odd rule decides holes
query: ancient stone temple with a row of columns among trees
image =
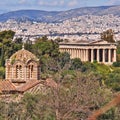
{"label": "ancient stone temple with a row of columns among trees", "polygon": [[116,44],[107,41],[82,41],[78,43],[60,43],[60,52],[68,52],[71,58],[81,61],[97,61],[104,64],[116,62]]}

